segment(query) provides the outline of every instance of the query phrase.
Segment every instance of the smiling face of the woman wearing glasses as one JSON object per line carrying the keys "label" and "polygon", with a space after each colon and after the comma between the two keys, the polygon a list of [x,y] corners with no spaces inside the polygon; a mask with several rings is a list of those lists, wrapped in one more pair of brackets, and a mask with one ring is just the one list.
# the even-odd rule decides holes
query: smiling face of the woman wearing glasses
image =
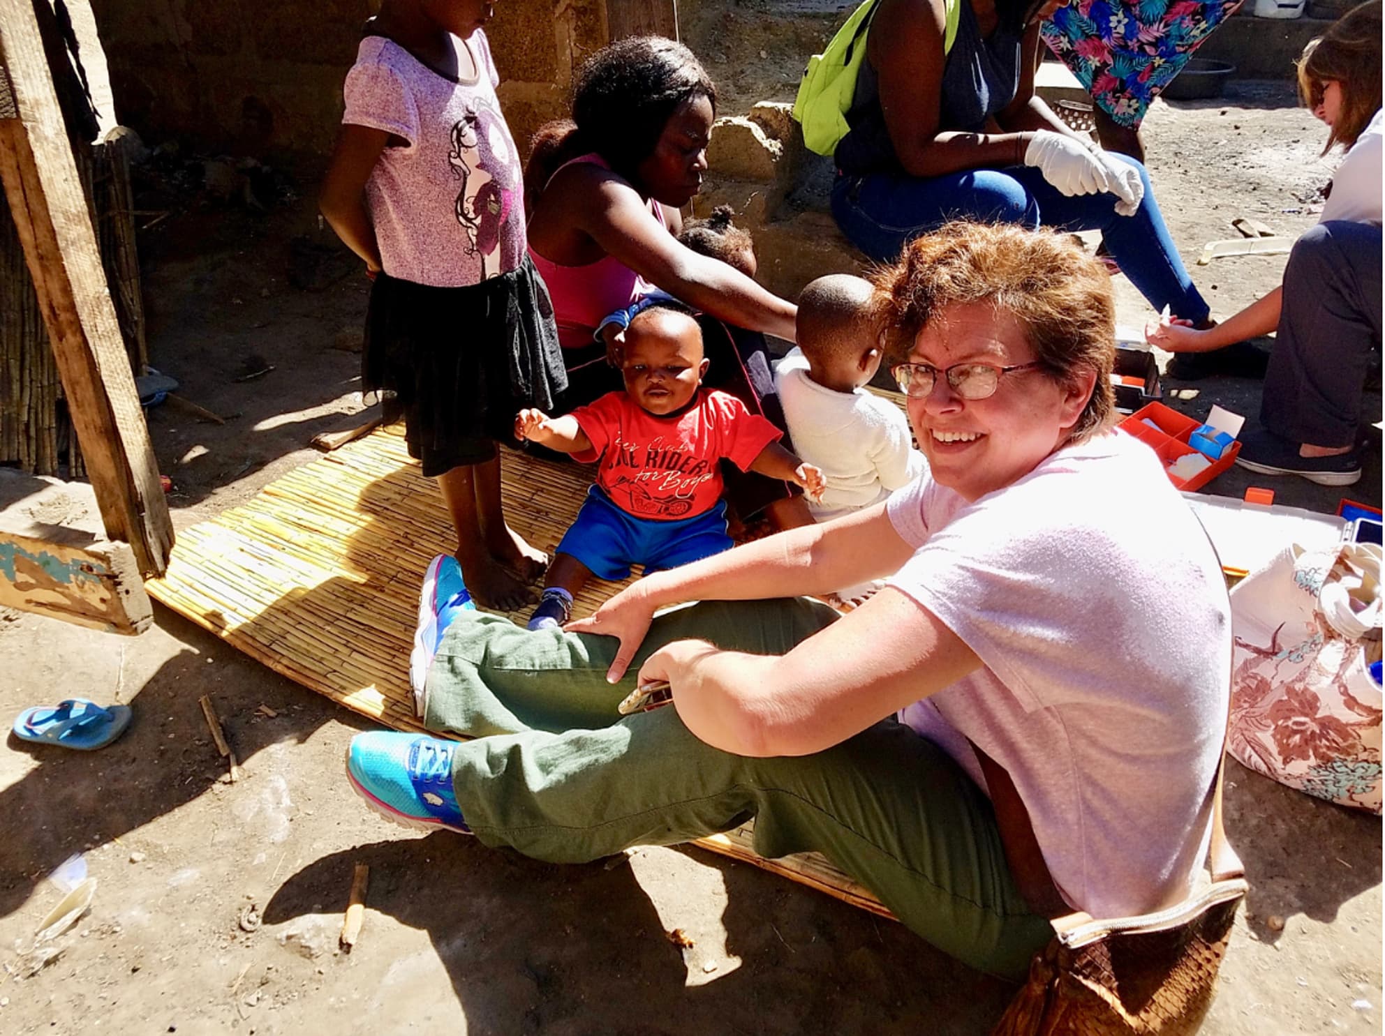
{"label": "smiling face of the woman wearing glasses", "polygon": [[[1024,328],[989,305],[951,305],[914,339],[911,363],[945,370],[956,363],[1011,367],[1035,360]],[[1096,374],[1064,385],[1039,368],[1000,375],[996,395],[963,399],[939,375],[924,399],[909,399],[909,421],[933,478],[967,500],[1028,475],[1068,440]]]}

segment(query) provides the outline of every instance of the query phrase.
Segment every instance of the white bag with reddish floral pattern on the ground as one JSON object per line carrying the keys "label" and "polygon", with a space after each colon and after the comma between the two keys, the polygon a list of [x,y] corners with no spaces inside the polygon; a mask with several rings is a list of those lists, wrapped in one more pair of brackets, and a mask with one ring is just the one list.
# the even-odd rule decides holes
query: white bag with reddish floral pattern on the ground
{"label": "white bag with reddish floral pattern on the ground", "polygon": [[1381,812],[1381,548],[1287,547],[1231,590],[1227,751],[1330,802]]}

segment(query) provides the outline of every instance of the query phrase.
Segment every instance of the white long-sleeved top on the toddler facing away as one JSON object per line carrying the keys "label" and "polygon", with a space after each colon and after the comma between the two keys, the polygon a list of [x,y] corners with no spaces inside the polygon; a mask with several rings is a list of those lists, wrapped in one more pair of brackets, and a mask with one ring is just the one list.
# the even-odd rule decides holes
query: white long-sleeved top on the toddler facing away
{"label": "white long-sleeved top on the toddler facing away", "polygon": [[866,389],[819,385],[801,349],[774,364],[774,388],[794,450],[827,481],[821,501],[807,501],[817,521],[877,504],[928,470],[897,406]]}

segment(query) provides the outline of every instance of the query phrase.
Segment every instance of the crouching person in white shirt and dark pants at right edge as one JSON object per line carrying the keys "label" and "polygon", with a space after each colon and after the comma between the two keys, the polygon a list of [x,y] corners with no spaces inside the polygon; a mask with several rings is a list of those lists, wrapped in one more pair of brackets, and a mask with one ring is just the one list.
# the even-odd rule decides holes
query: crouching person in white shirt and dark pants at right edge
{"label": "crouching person in white shirt and dark pants at right edge", "polygon": [[1361,476],[1361,396],[1381,349],[1381,0],[1349,11],[1303,48],[1298,84],[1327,123],[1323,154],[1348,148],[1321,220],[1294,244],[1281,287],[1224,324],[1198,331],[1174,321],[1148,338],[1191,355],[1177,363],[1277,328],[1263,428],[1241,436],[1235,463],[1349,486]]}

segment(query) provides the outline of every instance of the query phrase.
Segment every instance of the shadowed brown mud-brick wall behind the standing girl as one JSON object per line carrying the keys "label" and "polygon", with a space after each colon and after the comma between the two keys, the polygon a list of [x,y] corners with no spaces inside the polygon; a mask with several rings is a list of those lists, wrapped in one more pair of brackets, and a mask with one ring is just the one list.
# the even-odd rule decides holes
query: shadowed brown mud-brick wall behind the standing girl
{"label": "shadowed brown mud-brick wall behind the standing girl", "polygon": [[[93,0],[116,112],[150,143],[321,163],[378,0]],[[605,0],[504,0],[486,29],[515,140],[566,109],[608,37]]]}

